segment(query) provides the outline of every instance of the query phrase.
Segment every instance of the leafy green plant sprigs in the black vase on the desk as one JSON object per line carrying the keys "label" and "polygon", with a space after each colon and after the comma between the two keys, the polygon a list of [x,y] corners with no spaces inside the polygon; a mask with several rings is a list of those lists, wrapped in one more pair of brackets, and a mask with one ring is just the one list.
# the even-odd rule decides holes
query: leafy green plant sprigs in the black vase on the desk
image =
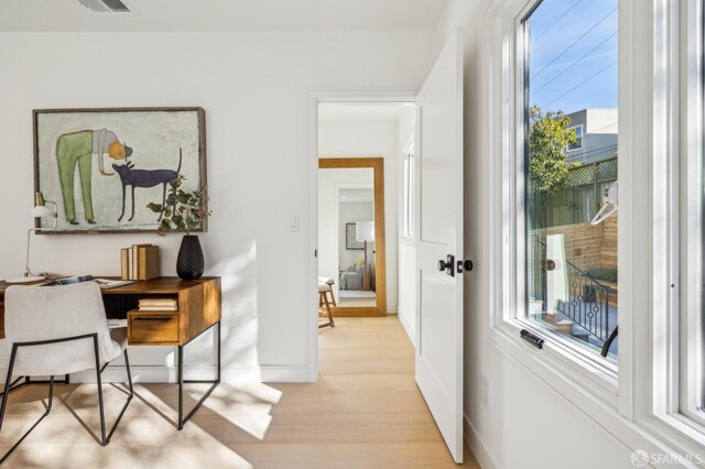
{"label": "leafy green plant sprigs in the black vase on the desk", "polygon": [[202,228],[206,219],[213,214],[208,210],[208,187],[203,186],[193,192],[186,192],[182,185],[186,178],[181,174],[169,183],[171,189],[164,205],[150,203],[147,207],[162,219],[158,229],[159,236],[167,231],[185,231],[186,234]]}

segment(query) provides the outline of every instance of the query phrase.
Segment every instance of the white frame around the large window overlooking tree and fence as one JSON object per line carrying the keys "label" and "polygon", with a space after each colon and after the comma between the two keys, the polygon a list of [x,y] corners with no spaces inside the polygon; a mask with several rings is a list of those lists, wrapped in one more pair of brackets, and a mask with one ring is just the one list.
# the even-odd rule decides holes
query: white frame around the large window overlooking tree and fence
{"label": "white frame around the large window overlooking tree and fence", "polygon": [[[677,181],[653,177],[653,174],[673,176],[669,164],[674,164],[675,159],[669,155],[677,155],[682,138],[692,134],[687,126],[676,126],[685,112],[677,108],[679,101],[693,105],[693,100],[679,96],[677,58],[688,52],[679,45],[677,37],[684,31],[674,22],[694,20],[692,11],[682,11],[685,9],[679,9],[677,3],[619,0],[618,246],[619,268],[630,274],[622,275],[619,285],[618,374],[592,366],[585,357],[572,355],[570,347],[561,348],[555,340],[536,350],[519,338],[523,325],[516,314],[518,294],[512,271],[518,253],[513,218],[517,190],[511,181],[517,170],[517,142],[522,141],[513,135],[523,132],[516,128],[517,101],[521,96],[516,85],[522,84],[516,51],[516,40],[521,34],[517,19],[527,15],[538,1],[491,1],[487,7],[481,100],[482,116],[488,121],[482,151],[489,185],[489,255],[495,261],[488,266],[485,336],[627,447],[650,454],[679,451],[705,457],[705,428],[677,412],[679,377],[674,374],[677,370],[674,360],[679,335],[673,332],[680,334],[681,309],[671,284],[677,269],[674,259],[681,254],[677,250],[673,252],[677,242],[671,242],[675,240],[672,223],[659,219],[664,214],[679,212]],[[692,8],[692,2],[687,3]],[[688,28],[692,30],[692,24]],[[687,122],[693,126],[692,119]],[[702,150],[701,146],[698,151]],[[659,244],[665,241],[670,249]]]}

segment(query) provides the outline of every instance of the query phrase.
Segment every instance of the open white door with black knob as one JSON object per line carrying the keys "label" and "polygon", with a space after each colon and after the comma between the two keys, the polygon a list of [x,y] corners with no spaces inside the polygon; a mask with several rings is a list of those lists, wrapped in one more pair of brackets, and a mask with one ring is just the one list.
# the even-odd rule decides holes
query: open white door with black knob
{"label": "open white door with black knob", "polygon": [[[463,462],[463,46],[446,43],[419,94],[416,383]],[[453,255],[449,269],[440,261]],[[451,275],[453,273],[453,275]]]}

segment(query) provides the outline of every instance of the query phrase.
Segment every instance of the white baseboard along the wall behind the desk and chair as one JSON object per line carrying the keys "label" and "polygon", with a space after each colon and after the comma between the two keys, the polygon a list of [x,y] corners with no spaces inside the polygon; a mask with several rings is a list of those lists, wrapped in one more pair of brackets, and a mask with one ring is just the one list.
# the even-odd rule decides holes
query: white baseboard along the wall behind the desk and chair
{"label": "white baseboard along the wall behind the desk and chair", "polygon": [[[130,367],[132,380],[135,383],[175,383],[176,367],[139,366]],[[124,382],[124,366],[108,367],[101,375],[104,382]],[[0,375],[7,375],[7,370],[0,370]],[[184,367],[185,380],[212,380],[215,378],[215,367]],[[95,383],[94,370],[72,373],[74,383]],[[264,366],[264,367],[224,367],[220,370],[221,382],[270,382],[270,383],[305,383],[306,367],[304,366]]]}

